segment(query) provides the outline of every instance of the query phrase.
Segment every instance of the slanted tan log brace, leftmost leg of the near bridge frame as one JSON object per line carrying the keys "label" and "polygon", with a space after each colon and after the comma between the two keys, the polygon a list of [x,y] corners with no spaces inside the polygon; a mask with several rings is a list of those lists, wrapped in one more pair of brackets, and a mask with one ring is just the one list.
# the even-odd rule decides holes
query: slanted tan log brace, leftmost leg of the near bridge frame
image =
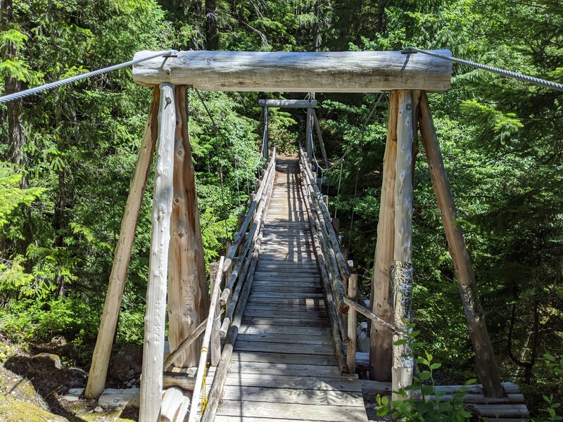
{"label": "slanted tan log brace, leftmost leg of the near bridge frame", "polygon": [[94,347],[94,354],[92,355],[86,391],[84,392],[84,396],[87,399],[98,398],[106,384],[113,336],[115,335],[115,328],[118,326],[119,311],[125,288],[125,279],[127,278],[127,268],[129,267],[129,260],[131,259],[131,251],[133,249],[137,219],[139,219],[139,210],[141,210],[148,172],[153,161],[156,138],[158,136],[159,101],[160,89],[155,87],[143,140],[139,148],[139,158],[137,159],[129,196],[127,196],[125,212],[121,220],[118,244],[115,245],[106,303],[103,306],[98,338],[96,340],[96,347]]}

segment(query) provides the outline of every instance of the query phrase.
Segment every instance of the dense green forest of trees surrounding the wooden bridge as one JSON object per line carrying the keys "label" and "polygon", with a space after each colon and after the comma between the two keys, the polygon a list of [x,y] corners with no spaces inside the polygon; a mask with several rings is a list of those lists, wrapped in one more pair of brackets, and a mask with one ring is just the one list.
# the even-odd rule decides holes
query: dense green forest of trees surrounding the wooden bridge
{"label": "dense green forest of trees surrounding the wooden bridge", "polygon": [[[560,0],[1,0],[0,13],[1,95],[163,49],[415,46],[563,82]],[[308,93],[200,94],[217,124],[190,89],[209,267],[254,187],[258,99]],[[62,338],[65,364],[88,370],[151,96],[125,68],[0,106],[1,361]],[[323,193],[369,298],[388,95],[315,98],[329,161],[346,153]],[[561,409],[539,409],[563,401],[563,94],[455,64],[451,88],[429,102],[502,379],[520,385],[534,417],[560,420]],[[296,153],[303,110],[269,119],[278,153]],[[150,180],[114,350],[143,343],[152,192]],[[476,378],[474,352],[422,144],[413,218],[417,339],[442,364],[438,383],[462,384]]]}

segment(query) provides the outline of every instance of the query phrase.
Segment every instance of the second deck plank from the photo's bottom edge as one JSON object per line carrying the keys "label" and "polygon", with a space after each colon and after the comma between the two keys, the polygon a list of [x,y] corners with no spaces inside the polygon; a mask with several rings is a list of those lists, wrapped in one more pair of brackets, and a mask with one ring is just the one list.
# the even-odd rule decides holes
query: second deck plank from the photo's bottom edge
{"label": "second deck plank from the photo's bottom edge", "polygon": [[248,402],[275,402],[331,406],[363,407],[364,400],[358,392],[294,390],[289,388],[239,387],[227,385],[224,399]]}

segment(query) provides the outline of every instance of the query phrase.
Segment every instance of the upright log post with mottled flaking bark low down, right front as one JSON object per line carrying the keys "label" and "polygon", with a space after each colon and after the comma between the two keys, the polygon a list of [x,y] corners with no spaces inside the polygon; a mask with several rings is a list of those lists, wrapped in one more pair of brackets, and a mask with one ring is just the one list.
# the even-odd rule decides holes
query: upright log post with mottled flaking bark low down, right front
{"label": "upright log post with mottled flaking bark low down, right front", "polygon": [[[398,92],[397,158],[395,167],[395,234],[391,286],[395,325],[407,331],[412,317],[412,144],[414,115],[413,91]],[[393,340],[399,340],[393,335]],[[393,345],[391,384],[393,391],[412,384],[414,362],[410,345]],[[405,397],[409,397],[409,394]],[[397,399],[393,395],[393,399]]]}

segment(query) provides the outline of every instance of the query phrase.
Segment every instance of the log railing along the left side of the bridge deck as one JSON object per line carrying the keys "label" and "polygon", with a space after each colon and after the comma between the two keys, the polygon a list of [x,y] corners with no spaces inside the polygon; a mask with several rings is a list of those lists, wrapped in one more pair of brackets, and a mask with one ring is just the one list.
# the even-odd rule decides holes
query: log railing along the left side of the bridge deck
{"label": "log railing along the left side of the bridge deck", "polygon": [[[246,217],[236,231],[226,255],[221,257],[218,264],[213,265],[211,305],[208,319],[204,321],[206,329],[194,395],[191,399],[189,422],[213,421],[220,402],[234,343],[250,295],[254,269],[258,262],[263,219],[274,186],[275,145],[268,156],[267,167],[259,181],[258,190],[253,194]],[[223,312],[224,317],[221,321]],[[200,335],[201,333],[203,329]],[[221,339],[224,339],[223,347],[221,347]],[[211,352],[211,365],[217,368],[211,385],[205,386],[208,350]]]}

